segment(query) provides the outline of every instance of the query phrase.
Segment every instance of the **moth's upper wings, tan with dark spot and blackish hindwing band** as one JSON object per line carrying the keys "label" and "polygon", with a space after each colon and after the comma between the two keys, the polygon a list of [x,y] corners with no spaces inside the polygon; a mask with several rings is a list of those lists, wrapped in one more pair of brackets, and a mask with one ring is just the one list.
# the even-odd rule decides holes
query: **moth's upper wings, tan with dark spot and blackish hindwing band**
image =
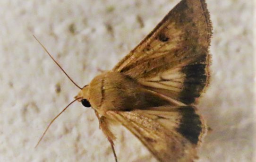
{"label": "moth's upper wings, tan with dark spot and blackish hindwing band", "polygon": [[212,24],[204,0],[182,0],[114,71],[191,104],[209,82]]}

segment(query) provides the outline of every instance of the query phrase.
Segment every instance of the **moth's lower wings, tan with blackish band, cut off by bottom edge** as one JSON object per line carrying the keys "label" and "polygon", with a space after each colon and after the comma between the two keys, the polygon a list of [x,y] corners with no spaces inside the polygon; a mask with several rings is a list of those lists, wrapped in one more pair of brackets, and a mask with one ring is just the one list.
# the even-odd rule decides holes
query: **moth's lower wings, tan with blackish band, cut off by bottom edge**
{"label": "moth's lower wings, tan with blackish band, cut off by bottom edge", "polygon": [[192,162],[206,132],[203,119],[191,106],[108,111],[107,114],[137,136],[161,162]]}

